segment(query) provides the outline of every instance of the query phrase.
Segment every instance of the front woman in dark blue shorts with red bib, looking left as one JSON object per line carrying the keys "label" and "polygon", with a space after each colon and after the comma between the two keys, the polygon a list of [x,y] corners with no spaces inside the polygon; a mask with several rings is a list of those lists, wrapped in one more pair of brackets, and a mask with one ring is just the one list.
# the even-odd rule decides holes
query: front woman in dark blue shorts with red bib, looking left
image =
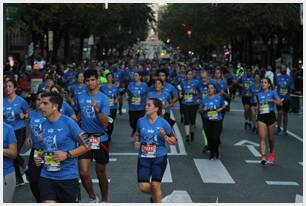
{"label": "front woman in dark blue shorts with red bib, looking left", "polygon": [[169,123],[160,117],[163,104],[149,98],[146,115],[137,121],[134,146],[139,150],[137,177],[139,189],[151,194],[151,202],[161,202],[161,181],[167,166],[166,143],[175,145],[176,138]]}

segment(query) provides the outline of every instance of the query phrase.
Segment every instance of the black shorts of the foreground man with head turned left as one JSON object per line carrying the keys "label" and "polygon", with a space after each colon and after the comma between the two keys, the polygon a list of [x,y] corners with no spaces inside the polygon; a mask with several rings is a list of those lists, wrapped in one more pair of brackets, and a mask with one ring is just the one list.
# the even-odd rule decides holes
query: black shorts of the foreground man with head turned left
{"label": "black shorts of the foreground man with head turned left", "polygon": [[81,200],[78,179],[52,180],[39,177],[39,193],[41,201],[54,200],[60,203],[78,203]]}

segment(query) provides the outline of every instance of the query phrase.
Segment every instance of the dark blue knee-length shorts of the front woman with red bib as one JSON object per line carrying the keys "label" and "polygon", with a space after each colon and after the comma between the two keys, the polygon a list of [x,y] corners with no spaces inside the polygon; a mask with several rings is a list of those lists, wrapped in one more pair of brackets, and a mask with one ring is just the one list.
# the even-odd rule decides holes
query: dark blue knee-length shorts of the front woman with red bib
{"label": "dark blue knee-length shorts of the front woman with red bib", "polygon": [[[161,182],[167,167],[167,155],[156,158],[138,158],[138,182]],[[152,178],[151,178],[152,177]]]}

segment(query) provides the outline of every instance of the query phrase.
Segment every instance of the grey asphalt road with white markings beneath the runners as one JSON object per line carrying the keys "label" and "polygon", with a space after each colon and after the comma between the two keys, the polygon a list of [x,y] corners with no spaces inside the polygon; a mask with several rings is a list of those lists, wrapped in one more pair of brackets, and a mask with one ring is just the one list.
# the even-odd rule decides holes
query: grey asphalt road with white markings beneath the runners
{"label": "grey asphalt road with white markings beneath the runners", "polygon": [[[295,203],[303,196],[303,125],[302,115],[290,114],[288,136],[276,136],[275,164],[259,164],[258,136],[243,128],[240,98],[232,102],[232,110],[224,120],[220,160],[208,160],[202,153],[201,118],[196,121],[195,141],[184,142],[183,125],[178,107],[173,109],[177,120],[178,144],[169,148],[168,168],[162,191],[172,202],[196,203]],[[111,142],[111,161],[107,166],[109,199],[113,203],[149,202],[149,196],[137,188],[137,153],[129,137],[127,113],[118,116]],[[24,151],[26,148],[24,148]],[[27,155],[27,153],[25,153]],[[94,189],[100,195],[92,166]],[[88,196],[81,186],[82,202]],[[180,195],[177,195],[180,194]],[[34,202],[29,184],[16,188],[14,202]]]}

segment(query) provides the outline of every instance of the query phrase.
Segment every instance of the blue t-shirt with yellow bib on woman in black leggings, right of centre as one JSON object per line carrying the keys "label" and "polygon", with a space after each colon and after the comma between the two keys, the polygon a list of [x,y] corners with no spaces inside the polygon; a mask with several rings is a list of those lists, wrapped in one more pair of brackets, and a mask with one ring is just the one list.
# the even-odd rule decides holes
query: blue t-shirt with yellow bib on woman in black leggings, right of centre
{"label": "blue t-shirt with yellow bib on woman in black leggings, right of centre", "polygon": [[204,107],[207,107],[208,111],[204,113],[205,119],[210,121],[221,121],[223,119],[222,114],[221,112],[217,112],[217,110],[225,104],[224,98],[221,96],[206,96],[199,105],[199,108],[202,110]]}

